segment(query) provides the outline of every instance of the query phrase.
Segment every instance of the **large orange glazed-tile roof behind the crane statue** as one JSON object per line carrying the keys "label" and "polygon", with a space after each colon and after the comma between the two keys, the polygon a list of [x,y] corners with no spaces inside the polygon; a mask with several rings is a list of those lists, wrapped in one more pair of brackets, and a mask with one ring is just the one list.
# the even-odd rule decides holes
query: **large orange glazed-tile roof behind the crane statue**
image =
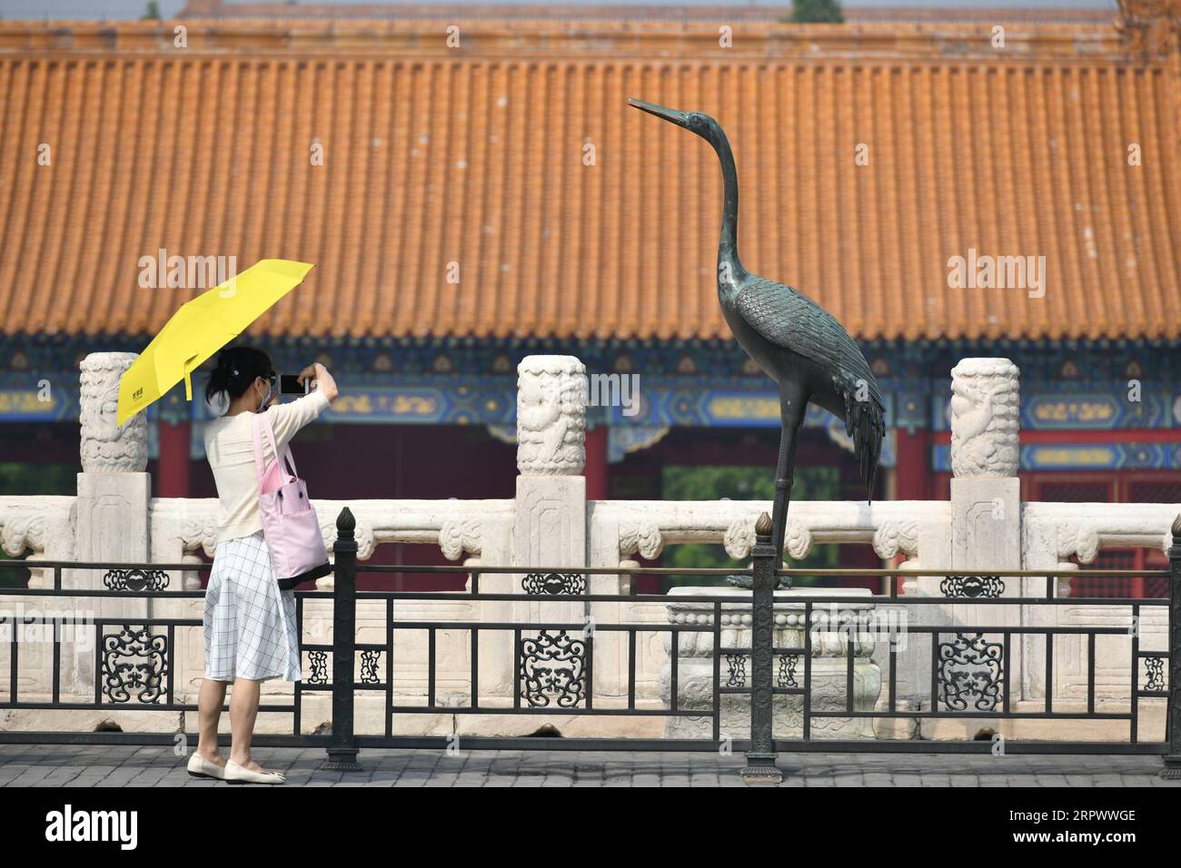
{"label": "large orange glazed-tile roof behind the crane statue", "polygon": [[[855,335],[1181,335],[1179,63],[1110,27],[187,24],[0,22],[6,333],[154,332],[165,248],[318,263],[267,334],[729,337],[717,161],[638,96],[718,117],[744,263]],[[1045,296],[950,289],[970,248]]]}

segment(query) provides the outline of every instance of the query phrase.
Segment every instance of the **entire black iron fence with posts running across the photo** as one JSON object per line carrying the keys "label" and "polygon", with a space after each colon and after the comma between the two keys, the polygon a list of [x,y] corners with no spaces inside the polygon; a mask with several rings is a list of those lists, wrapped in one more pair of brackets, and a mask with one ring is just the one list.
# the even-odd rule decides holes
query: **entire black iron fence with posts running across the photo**
{"label": "entire black iron fence with posts running across the photo", "polygon": [[[306,607],[319,602],[322,608],[331,606],[332,640],[302,642],[304,680],[294,684],[291,701],[270,701],[265,694],[260,712],[289,714],[291,731],[254,738],[260,745],[322,746],[331,768],[359,768],[358,752],[365,748],[445,749],[458,738],[469,749],[745,751],[745,777],[778,779],[779,752],[996,752],[1000,742],[1006,752],[1159,753],[1162,774],[1181,777],[1181,517],[1173,527],[1169,570],[988,575],[776,569],[770,537],[762,533],[746,570],[605,567],[524,573],[509,567],[378,566],[358,562],[350,510],[342,510],[337,529],[334,589],[296,593],[300,635],[305,635]],[[759,530],[765,529],[761,523]],[[202,620],[193,614],[157,614],[155,601],[176,606],[201,599],[203,590],[168,587],[169,575],[210,566],[0,561],[0,569],[27,567],[52,576],[46,587],[0,588],[0,671],[7,670],[7,684],[0,679],[0,710],[196,711],[195,703],[176,697],[177,632],[195,629],[200,635]],[[81,569],[100,570],[103,587],[64,587],[63,573]],[[361,574],[424,572],[465,574],[468,586],[462,592],[358,590]],[[737,576],[751,593],[730,588],[699,588],[686,596],[639,593],[635,576],[651,574],[715,581]],[[870,596],[831,588],[777,596],[777,585],[797,575],[875,576],[883,588]],[[618,585],[616,593],[599,593],[596,576],[631,579],[624,593],[618,593]],[[1129,587],[1136,580],[1161,579],[1169,596],[1057,593],[1059,577],[1079,576],[1124,581]],[[903,579],[926,577],[939,581],[938,594],[900,593]],[[1006,582],[1014,582],[1016,595],[1006,593]],[[14,598],[44,605],[38,612],[17,613],[4,605]],[[71,608],[65,614],[51,611],[66,599]],[[93,647],[79,647],[63,633],[79,626],[67,621],[87,599],[96,605],[139,600],[143,613],[86,613],[76,620],[92,632]],[[458,616],[456,603],[477,603],[479,615]],[[616,605],[612,618],[596,616],[612,603]],[[619,616],[619,607],[639,603],[676,608],[679,616],[642,622]],[[439,606],[451,609],[450,616],[435,615],[432,608]],[[1104,618],[1063,626],[1000,616],[1063,606],[1076,613],[1103,607]],[[967,614],[950,622],[922,616],[948,609]],[[368,637],[373,641],[359,638],[359,611],[368,613],[361,632],[377,634]],[[1115,612],[1125,616],[1114,616]],[[890,618],[881,619],[882,613]],[[1163,647],[1143,648],[1141,625],[1153,613],[1166,627],[1167,639]],[[43,631],[37,641],[28,640],[31,626]],[[403,641],[407,634],[418,641]],[[653,696],[651,684],[641,691],[637,680],[645,642],[655,637],[667,650],[659,696]],[[1075,644],[1072,665],[1081,671],[1072,674],[1082,677],[1075,684],[1085,692],[1069,701],[1056,698],[1055,688],[1056,650],[1063,642]],[[882,644],[885,653],[872,658],[872,646]],[[446,673],[439,672],[441,655],[450,661]],[[455,672],[456,660],[463,661],[463,679]],[[609,670],[598,680],[596,666]],[[46,668],[48,686],[31,684],[30,671],[45,674]],[[64,672],[70,674],[66,687]],[[90,679],[85,696],[78,691],[79,679]],[[868,687],[867,679],[874,681]],[[1023,684],[1032,690],[1022,692]],[[324,692],[331,693],[331,731],[305,732],[304,705],[309,694]],[[1040,697],[1030,698],[1038,692]],[[377,697],[384,732],[355,731],[359,696]],[[1161,700],[1157,707],[1163,705],[1163,716],[1154,718],[1163,720],[1163,740],[1155,739],[1160,729],[1154,729],[1151,740],[1142,738],[1141,704],[1153,699]],[[0,729],[0,742],[170,744],[177,738],[176,719],[171,717],[174,729],[168,731]],[[404,725],[411,719],[428,723]],[[492,723],[461,724],[474,719]],[[546,727],[547,720],[569,725],[574,735],[555,737],[559,732]],[[646,729],[633,725],[640,720]],[[1094,727],[1096,736],[1005,739],[992,729],[1003,722],[1043,727],[1069,722],[1076,730]],[[966,726],[966,735],[952,738],[944,731],[929,737],[925,729],[947,723]],[[432,730],[439,725],[446,731]],[[1118,736],[1111,735],[1113,727],[1120,727]],[[416,730],[417,735],[407,735]],[[501,735],[505,732],[516,735]],[[195,740],[195,733],[187,737]]]}

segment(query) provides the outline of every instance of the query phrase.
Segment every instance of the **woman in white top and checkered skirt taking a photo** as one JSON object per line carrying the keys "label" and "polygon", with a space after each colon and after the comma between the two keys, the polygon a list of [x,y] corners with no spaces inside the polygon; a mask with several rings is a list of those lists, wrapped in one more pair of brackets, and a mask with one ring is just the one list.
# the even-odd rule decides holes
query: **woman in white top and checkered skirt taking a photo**
{"label": "woman in white top and checkered skirt taking a photo", "polygon": [[[189,758],[189,772],[231,783],[283,783],[279,772],[265,771],[250,758],[260,685],[272,678],[299,681],[299,625],[295,592],[276,583],[259,511],[259,477],[252,423],[267,413],[282,455],[292,437],[337,399],[337,384],[324,365],[300,373],[307,394],[273,404],[276,392],[270,357],[253,347],[222,350],[209,377],[205,400],[221,405],[222,416],[205,426],[205,455],[217,485],[221,516],[217,548],[205,588],[205,677],[197,699],[200,739]],[[263,466],[276,456],[262,438]],[[217,722],[226,686],[234,683],[229,720],[229,762],[217,748]]]}

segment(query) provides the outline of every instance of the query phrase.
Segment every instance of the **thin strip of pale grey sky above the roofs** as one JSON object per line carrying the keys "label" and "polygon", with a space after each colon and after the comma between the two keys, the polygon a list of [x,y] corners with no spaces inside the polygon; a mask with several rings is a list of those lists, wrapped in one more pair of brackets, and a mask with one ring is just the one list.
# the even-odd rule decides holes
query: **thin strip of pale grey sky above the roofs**
{"label": "thin strip of pale grey sky above the roofs", "polygon": [[[317,2],[355,2],[357,0],[315,0]],[[363,0],[380,2],[380,0]],[[462,1],[462,0],[461,0]],[[481,2],[536,2],[537,0],[481,0]],[[614,5],[621,0],[562,0],[563,5]],[[645,6],[704,4],[709,6],[749,6],[749,0],[640,0]],[[766,5],[784,6],[790,0],[772,0]],[[158,0],[161,14],[165,18],[180,11],[184,0]],[[420,2],[430,6],[430,2]],[[934,6],[934,7],[988,7],[988,8],[1116,8],[1115,0],[846,0],[846,6]],[[139,18],[148,0],[0,0],[0,17],[7,19],[102,19]]]}

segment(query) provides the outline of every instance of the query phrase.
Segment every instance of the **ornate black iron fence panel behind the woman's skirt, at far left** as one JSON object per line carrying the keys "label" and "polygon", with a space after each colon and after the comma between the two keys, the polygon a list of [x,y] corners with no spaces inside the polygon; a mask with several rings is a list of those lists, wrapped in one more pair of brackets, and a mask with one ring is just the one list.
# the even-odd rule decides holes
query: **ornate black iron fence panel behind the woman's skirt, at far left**
{"label": "ornate black iron fence panel behind the woman's skirt, at far left", "polygon": [[[2,568],[20,568],[24,561],[2,561]],[[0,730],[0,743],[37,740],[43,743],[109,742],[170,744],[176,738],[177,712],[189,712],[190,738],[196,733],[196,691],[189,686],[178,696],[176,676],[182,644],[178,638],[189,632],[201,647],[203,620],[200,616],[163,615],[159,603],[175,612],[183,601],[204,596],[203,590],[172,588],[170,575],[207,573],[208,563],[122,563],[40,561],[44,574],[52,574],[46,587],[0,588],[0,709],[60,711],[65,722],[60,730],[28,732]],[[65,583],[68,570],[102,572],[97,587],[72,587]],[[296,606],[302,627],[302,598]],[[328,594],[321,594],[328,598]],[[24,613],[11,611],[19,602]],[[111,615],[112,603],[141,609],[135,615]],[[97,613],[97,614],[96,614]],[[301,633],[302,634],[302,633]],[[189,642],[193,647],[193,642]],[[296,683],[292,701],[274,701],[263,697],[260,712],[287,713],[292,719],[288,733],[259,733],[257,744],[325,744],[325,736],[300,732],[301,694],[318,679],[317,657],[326,646],[302,645],[304,672],[308,680]],[[324,681],[327,684],[327,681]],[[331,687],[329,687],[331,688]],[[100,710],[111,714],[99,731],[68,729],[70,712]],[[124,732],[122,712],[158,712],[155,727]],[[20,720],[20,717],[13,719]],[[136,720],[142,718],[137,717]],[[125,722],[124,722],[125,723]]]}

